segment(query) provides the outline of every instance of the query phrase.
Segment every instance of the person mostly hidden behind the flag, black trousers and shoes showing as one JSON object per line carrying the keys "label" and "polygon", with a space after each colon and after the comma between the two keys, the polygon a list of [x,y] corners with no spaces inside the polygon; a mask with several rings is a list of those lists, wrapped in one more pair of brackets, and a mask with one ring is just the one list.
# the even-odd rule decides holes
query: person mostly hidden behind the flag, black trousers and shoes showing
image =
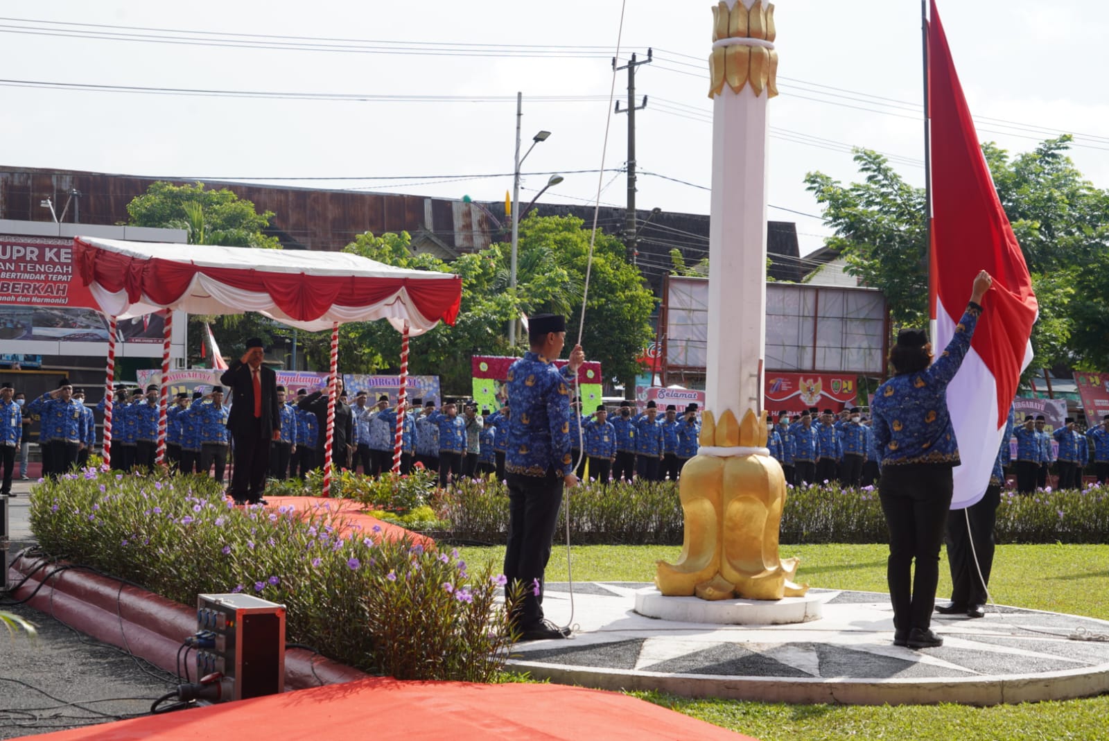
{"label": "person mostly hidden behind the flag, black trousers and shoes showing", "polygon": [[[947,514],[947,562],[952,568],[952,601],[937,605],[940,615],[966,612],[968,618],[986,617],[986,586],[994,568],[994,524],[997,521],[997,506],[1005,488],[1003,464],[1009,459],[1009,438],[1016,410],[1009,407],[1009,419],[1001,435],[1001,446],[994,460],[994,473],[989,477],[986,494],[966,509],[953,509]],[[979,572],[981,576],[979,577]]]}

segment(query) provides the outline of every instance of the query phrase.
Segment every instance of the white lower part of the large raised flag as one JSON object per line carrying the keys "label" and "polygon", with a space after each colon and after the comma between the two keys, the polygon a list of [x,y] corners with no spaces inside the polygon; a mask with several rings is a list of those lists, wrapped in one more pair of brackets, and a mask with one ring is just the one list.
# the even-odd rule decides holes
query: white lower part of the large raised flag
{"label": "white lower part of the large raised flag", "polygon": [[[989,294],[985,301],[989,301]],[[962,307],[959,309],[962,312]],[[933,325],[935,352],[942,353],[955,335],[955,321],[936,300],[936,319]],[[1032,359],[1031,343],[1027,345],[1024,372]],[[963,509],[977,503],[986,494],[989,476],[1001,447],[1006,420],[997,426],[997,379],[971,346],[963,358],[958,373],[947,385],[947,410],[959,444],[959,459],[955,467],[952,509]]]}

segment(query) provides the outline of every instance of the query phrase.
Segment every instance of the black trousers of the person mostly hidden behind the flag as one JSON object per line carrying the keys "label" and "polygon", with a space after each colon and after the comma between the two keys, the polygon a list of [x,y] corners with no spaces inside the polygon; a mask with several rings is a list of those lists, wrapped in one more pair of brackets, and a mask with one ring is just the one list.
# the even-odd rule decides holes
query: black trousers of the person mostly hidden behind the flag
{"label": "black trousers of the person mostly hidden behind the flag", "polygon": [[952,603],[957,607],[986,603],[986,585],[994,566],[994,522],[1000,501],[1001,487],[990,485],[976,504],[947,515],[947,564],[952,568]]}

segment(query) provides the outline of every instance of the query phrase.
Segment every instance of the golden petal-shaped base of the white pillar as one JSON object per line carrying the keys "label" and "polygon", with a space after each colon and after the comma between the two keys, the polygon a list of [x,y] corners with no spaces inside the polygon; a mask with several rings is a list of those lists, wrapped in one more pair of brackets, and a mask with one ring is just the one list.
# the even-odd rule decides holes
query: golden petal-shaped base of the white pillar
{"label": "golden petal-shaped base of the white pillar", "polygon": [[798,559],[780,559],[777,534],[785,505],[785,477],[776,460],[742,448],[766,443],[763,416],[731,410],[719,422],[705,412],[701,445],[739,448],[731,456],[698,455],[678,481],[685,530],[674,565],[659,561],[654,583],[668,597],[718,600],[801,597],[808,585],[793,579]]}

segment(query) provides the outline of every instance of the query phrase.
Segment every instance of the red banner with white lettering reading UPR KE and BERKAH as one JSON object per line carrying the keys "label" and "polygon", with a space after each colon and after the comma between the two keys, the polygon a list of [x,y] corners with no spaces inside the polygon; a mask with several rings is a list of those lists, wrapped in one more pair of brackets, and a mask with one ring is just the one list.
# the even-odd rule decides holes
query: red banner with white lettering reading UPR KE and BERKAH
{"label": "red banner with white lettering reading UPR KE and BERKAH", "polygon": [[0,304],[95,308],[73,263],[73,241],[0,236]]}

